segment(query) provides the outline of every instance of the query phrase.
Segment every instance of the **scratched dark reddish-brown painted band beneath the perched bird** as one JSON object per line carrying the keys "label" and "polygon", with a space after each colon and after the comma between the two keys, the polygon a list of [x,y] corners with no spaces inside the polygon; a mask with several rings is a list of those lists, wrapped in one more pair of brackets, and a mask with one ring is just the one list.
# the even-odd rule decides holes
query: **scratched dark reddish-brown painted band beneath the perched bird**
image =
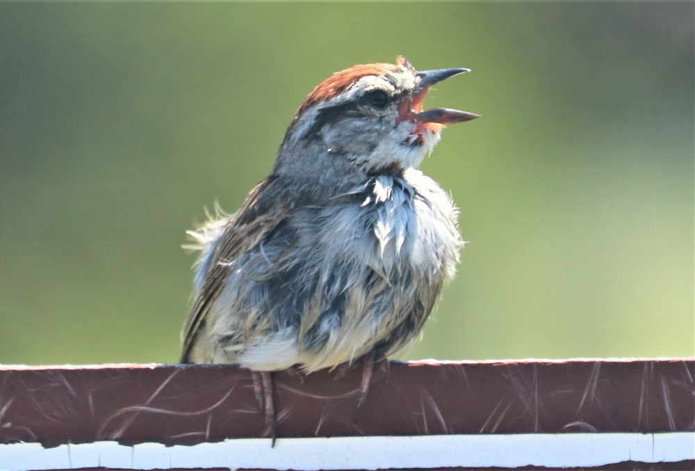
{"label": "scratched dark reddish-brown painted band beneath the perched bird", "polygon": [[[354,420],[361,368],[274,374],[279,437],[695,429],[695,358],[391,362]],[[268,436],[229,365],[0,367],[0,442],[194,445]]]}

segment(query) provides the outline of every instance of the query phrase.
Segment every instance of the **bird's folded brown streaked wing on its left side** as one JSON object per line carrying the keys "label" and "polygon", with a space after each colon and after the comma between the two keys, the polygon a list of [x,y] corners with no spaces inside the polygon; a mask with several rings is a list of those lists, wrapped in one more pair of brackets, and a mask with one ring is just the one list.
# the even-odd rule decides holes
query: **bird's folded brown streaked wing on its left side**
{"label": "bird's folded brown streaked wing on its left side", "polygon": [[205,317],[218,298],[231,273],[231,262],[261,243],[272,230],[288,218],[292,198],[279,189],[277,177],[270,176],[247,196],[239,211],[231,216],[208,264],[202,287],[193,300],[181,332],[182,363],[189,362],[193,342]]}

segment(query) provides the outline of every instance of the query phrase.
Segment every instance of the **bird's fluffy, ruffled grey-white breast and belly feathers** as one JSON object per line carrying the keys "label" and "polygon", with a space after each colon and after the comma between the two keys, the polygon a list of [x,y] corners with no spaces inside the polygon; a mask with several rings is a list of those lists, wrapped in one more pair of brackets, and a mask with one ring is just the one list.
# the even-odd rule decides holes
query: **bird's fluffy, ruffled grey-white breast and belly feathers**
{"label": "bird's fluffy, ruffled grey-white breast and belly feathers", "polygon": [[[220,225],[209,227],[197,280],[215,263]],[[369,351],[388,356],[417,337],[462,244],[457,209],[418,170],[295,207],[286,225],[228,262],[193,357],[314,371]]]}

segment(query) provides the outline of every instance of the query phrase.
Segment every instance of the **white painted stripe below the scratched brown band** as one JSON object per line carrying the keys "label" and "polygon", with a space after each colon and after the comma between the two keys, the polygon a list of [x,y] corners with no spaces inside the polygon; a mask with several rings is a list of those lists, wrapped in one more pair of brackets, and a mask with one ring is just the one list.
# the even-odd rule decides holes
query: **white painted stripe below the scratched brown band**
{"label": "white painted stripe below the scratched brown band", "polygon": [[104,466],[126,470],[269,468],[345,470],[386,468],[580,467],[623,461],[695,459],[695,432],[519,433],[409,437],[246,438],[190,447],[95,442],[44,448],[0,445],[0,470],[28,471]]}

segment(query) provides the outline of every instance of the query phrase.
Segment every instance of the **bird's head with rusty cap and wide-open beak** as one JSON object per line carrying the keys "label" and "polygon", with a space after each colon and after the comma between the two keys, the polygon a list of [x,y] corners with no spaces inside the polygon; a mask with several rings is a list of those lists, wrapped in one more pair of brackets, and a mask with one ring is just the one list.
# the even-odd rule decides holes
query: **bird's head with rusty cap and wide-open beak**
{"label": "bird's head with rusty cap and wide-open beak", "polygon": [[395,64],[354,65],[322,81],[304,99],[287,129],[275,172],[320,175],[417,167],[446,125],[477,118],[453,109],[423,110],[434,83],[468,69],[418,72]]}

